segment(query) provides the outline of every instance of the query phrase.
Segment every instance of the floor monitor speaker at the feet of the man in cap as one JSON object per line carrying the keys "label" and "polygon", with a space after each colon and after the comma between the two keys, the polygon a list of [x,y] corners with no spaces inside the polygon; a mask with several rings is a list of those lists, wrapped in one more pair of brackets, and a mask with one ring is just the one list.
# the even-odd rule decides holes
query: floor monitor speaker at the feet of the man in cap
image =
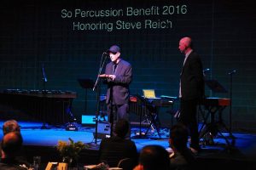
{"label": "floor monitor speaker at the feet of the man in cap", "polygon": [[[96,138],[96,133],[93,133]],[[97,139],[104,139],[110,137],[110,123],[109,122],[98,122],[97,127]]]}

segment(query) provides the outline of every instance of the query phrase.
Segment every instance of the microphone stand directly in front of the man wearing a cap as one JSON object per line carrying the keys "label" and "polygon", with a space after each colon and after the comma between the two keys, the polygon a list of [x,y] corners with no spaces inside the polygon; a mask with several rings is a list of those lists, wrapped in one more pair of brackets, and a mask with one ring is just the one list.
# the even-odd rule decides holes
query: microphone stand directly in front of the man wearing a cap
{"label": "microphone stand directly in front of the man wearing a cap", "polygon": [[[105,56],[105,57],[104,57]],[[97,138],[98,138],[98,116],[99,116],[99,112],[100,112],[100,98],[101,98],[101,80],[99,75],[101,75],[102,73],[102,68],[106,63],[106,59],[107,59],[108,55],[106,53],[102,54],[102,59],[101,59],[101,63],[100,63],[100,68],[97,74],[97,78],[96,78],[96,82],[94,84],[93,87],[93,91],[95,91],[95,89],[97,88],[96,91],[96,129],[95,129],[95,144],[97,145]]]}

